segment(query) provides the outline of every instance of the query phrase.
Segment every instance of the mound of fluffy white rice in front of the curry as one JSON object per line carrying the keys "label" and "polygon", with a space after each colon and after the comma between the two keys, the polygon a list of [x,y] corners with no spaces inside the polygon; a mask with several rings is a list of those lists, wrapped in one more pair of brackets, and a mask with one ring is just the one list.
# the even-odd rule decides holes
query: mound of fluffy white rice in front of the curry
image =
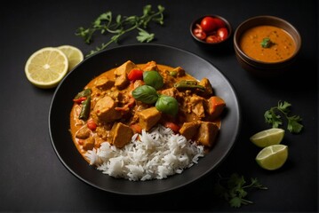
{"label": "mound of fluffy white rice in front of the curry", "polygon": [[103,142],[85,156],[104,174],[144,181],[182,173],[203,157],[203,146],[157,125],[149,132],[142,130],[141,134],[135,134],[132,142],[122,149]]}

